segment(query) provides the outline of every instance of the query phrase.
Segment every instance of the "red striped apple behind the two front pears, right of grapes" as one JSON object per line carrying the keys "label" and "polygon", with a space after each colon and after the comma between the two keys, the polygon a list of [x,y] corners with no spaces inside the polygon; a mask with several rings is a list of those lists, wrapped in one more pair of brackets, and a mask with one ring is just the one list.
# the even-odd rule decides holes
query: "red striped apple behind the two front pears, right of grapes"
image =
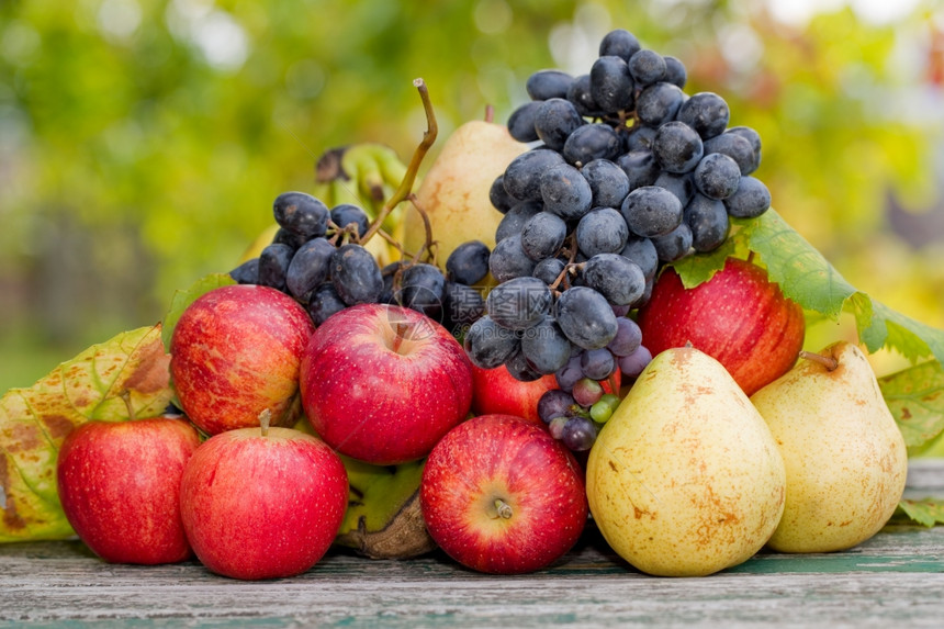
{"label": "red striped apple behind the two front pears, right of grapes", "polygon": [[764,269],[728,258],[722,270],[694,289],[665,269],[639,312],[639,327],[652,356],[690,342],[723,364],[751,395],[794,366],[806,323],[802,308]]}

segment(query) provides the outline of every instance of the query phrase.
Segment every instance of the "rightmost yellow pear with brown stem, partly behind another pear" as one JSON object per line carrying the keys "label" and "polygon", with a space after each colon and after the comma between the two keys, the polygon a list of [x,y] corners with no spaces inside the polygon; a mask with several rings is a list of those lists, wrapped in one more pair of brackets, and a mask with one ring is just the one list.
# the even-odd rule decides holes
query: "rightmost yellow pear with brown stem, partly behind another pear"
{"label": "rightmost yellow pear with brown stem, partly behind another pear", "polygon": [[885,526],[904,491],[904,439],[865,355],[840,341],[820,356],[751,397],[787,470],[784,516],[768,542],[780,552],[856,546]]}

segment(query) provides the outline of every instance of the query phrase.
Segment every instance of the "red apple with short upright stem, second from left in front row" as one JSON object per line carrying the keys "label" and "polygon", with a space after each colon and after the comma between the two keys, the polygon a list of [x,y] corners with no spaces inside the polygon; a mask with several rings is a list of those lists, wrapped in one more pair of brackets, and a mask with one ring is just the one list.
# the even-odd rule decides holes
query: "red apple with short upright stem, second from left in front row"
{"label": "red apple with short upright stem, second from left in front row", "polygon": [[291,428],[239,428],[194,452],[180,483],[187,538],[209,570],[233,579],[293,576],[335,539],[348,478],[321,439]]}

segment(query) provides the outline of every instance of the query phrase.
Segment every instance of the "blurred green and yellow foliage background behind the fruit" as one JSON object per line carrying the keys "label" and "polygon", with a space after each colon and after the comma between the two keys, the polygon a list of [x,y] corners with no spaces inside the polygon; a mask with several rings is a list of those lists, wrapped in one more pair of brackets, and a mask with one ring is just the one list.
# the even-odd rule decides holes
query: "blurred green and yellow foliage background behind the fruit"
{"label": "blurred green and yellow foliage background behind the fruit", "polygon": [[441,146],[488,103],[504,121],[532,71],[588,71],[614,27],[760,131],[774,206],[847,280],[944,327],[944,11],[831,5],[784,21],[789,0],[2,2],[0,391],[232,268],[327,148],[406,160],[415,77]]}

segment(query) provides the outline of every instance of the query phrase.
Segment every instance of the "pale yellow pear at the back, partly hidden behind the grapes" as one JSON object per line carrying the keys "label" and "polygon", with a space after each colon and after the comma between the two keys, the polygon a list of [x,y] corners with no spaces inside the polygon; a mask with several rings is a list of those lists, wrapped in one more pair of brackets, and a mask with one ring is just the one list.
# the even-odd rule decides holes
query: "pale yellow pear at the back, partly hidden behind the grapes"
{"label": "pale yellow pear at the back, partly hidden behind the grapes", "polygon": [[[505,125],[470,121],[457,128],[423,178],[416,204],[429,216],[432,238],[439,243],[436,260],[445,268],[456,247],[468,240],[495,246],[495,228],[502,221],[488,199],[495,179],[528,146],[508,134]],[[426,242],[419,213],[406,213],[403,245],[415,254]]]}

